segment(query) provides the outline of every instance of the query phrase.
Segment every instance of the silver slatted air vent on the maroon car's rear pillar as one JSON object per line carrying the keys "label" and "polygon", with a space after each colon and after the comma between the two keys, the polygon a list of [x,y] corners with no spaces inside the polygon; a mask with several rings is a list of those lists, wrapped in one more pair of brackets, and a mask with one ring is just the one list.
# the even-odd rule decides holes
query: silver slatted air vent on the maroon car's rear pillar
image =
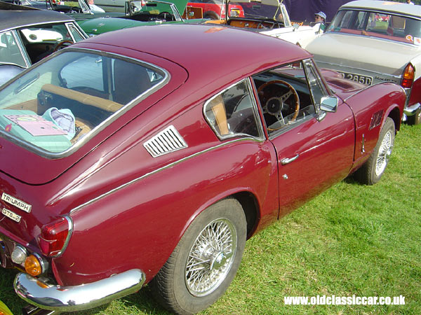
{"label": "silver slatted air vent on the maroon car's rear pillar", "polygon": [[156,134],[143,144],[147,152],[156,158],[160,155],[187,148],[187,144],[173,125]]}

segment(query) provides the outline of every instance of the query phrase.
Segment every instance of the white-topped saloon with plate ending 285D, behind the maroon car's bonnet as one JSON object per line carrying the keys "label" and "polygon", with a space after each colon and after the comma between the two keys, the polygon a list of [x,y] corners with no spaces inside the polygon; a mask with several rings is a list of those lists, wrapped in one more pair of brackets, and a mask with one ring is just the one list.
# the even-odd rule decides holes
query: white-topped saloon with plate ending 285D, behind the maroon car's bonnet
{"label": "white-topped saloon with plate ending 285D, behind the maroon car's bonnet", "polygon": [[321,68],[366,85],[392,81],[406,90],[403,120],[421,123],[421,6],[352,1],[326,33],[307,45]]}

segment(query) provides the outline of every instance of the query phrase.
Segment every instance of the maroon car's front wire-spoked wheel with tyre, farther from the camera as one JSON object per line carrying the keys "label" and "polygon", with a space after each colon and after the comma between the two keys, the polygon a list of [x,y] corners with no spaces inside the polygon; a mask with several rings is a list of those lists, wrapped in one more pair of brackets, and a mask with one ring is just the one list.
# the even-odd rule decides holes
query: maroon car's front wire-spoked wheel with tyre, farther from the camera
{"label": "maroon car's front wire-spoked wheel with tyre, farther from the camera", "polygon": [[385,172],[387,162],[392,154],[395,137],[395,125],[392,118],[386,118],[380,131],[379,139],[370,158],[355,172],[355,178],[360,183],[373,185],[380,181]]}

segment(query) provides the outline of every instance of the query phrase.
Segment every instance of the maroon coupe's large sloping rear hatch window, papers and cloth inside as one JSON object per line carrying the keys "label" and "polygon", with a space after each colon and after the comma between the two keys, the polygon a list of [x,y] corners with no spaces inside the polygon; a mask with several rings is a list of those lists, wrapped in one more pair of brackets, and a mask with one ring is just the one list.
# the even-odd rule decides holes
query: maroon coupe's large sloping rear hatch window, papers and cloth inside
{"label": "maroon coupe's large sloping rear hatch window, papers and cloth inside", "polygon": [[0,133],[39,155],[69,155],[167,81],[146,62],[67,48],[0,90]]}

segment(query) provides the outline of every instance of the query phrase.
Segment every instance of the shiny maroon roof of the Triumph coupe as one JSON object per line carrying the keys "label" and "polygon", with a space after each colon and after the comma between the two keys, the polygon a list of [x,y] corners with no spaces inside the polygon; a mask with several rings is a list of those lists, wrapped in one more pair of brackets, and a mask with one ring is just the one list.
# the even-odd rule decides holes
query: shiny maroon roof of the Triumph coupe
{"label": "shiny maroon roof of the Triumph coupe", "polygon": [[263,64],[288,63],[312,57],[298,45],[282,39],[219,25],[132,27],[88,38],[74,47],[83,43],[100,43],[147,52],[180,64],[189,73],[215,73],[225,68],[227,73],[236,71],[237,77]]}

